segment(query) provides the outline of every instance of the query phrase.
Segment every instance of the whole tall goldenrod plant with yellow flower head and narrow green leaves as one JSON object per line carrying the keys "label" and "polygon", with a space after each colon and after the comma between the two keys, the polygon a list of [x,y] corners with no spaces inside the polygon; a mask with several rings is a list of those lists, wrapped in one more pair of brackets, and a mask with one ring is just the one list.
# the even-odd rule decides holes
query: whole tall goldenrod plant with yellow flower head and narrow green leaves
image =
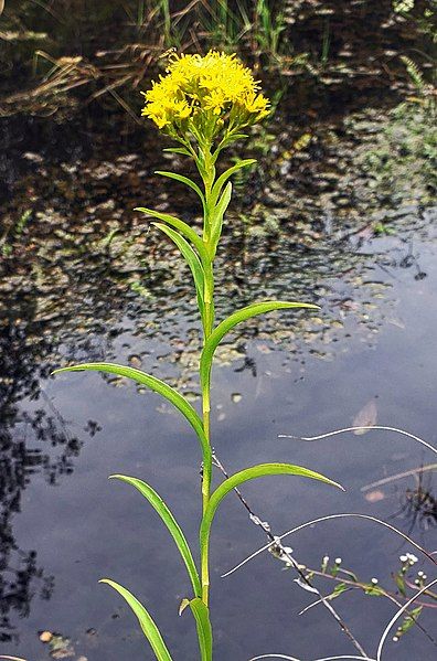
{"label": "whole tall goldenrod plant with yellow flower head and narrow green leaves", "polygon": [[[300,466],[290,463],[262,463],[241,470],[225,479],[215,490],[211,488],[213,449],[210,436],[210,391],[214,353],[223,338],[232,329],[257,314],[273,310],[296,308],[316,309],[306,302],[266,300],[254,302],[233,312],[220,322],[214,313],[214,258],[222,234],[223,218],[231,202],[231,177],[254,163],[244,159],[217,173],[216,166],[222,151],[231,143],[246,137],[242,131],[260,121],[269,113],[269,102],[260,93],[259,84],[235,55],[210,51],[205,56],[172,55],[166,75],[152,83],[145,93],[145,117],[178,143],[171,148],[178,154],[192,159],[199,171],[199,183],[175,172],[157,172],[192,189],[200,199],[203,210],[203,232],[183,220],[140,207],[153,225],[172,241],[185,259],[194,281],[201,321],[202,347],[200,348],[199,376],[202,391],[202,415],[173,387],[151,374],[129,366],[111,363],[85,363],[57,370],[57,372],[93,370],[117,374],[146,385],[170,402],[191,425],[202,457],[202,516],[200,521],[200,567],[194,562],[186,539],[161,497],[141,479],[111,476],[135,487],[158,512],[183,561],[191,582],[192,594],[181,604],[180,611],[189,607],[194,616],[199,653],[202,661],[213,658],[213,635],[210,621],[209,550],[211,526],[223,498],[233,489],[255,478],[273,475],[302,476],[339,487],[332,480]],[[104,579],[129,604],[141,629],[159,661],[170,661],[172,655],[146,608],[125,587],[114,580]]]}

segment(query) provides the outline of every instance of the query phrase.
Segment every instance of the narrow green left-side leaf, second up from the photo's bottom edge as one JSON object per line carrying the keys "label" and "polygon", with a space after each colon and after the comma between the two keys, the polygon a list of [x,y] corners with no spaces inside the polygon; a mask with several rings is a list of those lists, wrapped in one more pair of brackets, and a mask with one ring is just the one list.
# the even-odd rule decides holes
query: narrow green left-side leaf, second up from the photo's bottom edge
{"label": "narrow green left-side leaf, second up from the photo's bottom edge", "polygon": [[193,591],[196,597],[200,597],[202,594],[201,582],[199,578],[199,573],[190,551],[190,546],[185,540],[185,536],[174,519],[173,514],[169,510],[168,505],[164,503],[162,498],[152,489],[149,484],[139,480],[138,478],[130,478],[128,476],[115,475],[110,476],[109,479],[121,480],[122,482],[127,482],[135,487],[151,504],[153,510],[160,515],[163,523],[166,524],[169,533],[174,540],[175,545],[178,546],[179,553],[185,564],[186,572],[189,574],[191,585],[193,586]]}

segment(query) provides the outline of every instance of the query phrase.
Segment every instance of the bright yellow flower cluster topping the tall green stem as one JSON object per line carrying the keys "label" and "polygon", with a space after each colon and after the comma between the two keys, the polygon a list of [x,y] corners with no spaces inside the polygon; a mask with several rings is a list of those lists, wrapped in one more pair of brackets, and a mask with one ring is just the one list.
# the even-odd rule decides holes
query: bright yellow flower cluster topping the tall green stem
{"label": "bright yellow flower cluster topping the tall green stem", "polygon": [[142,93],[141,114],[170,134],[194,128],[214,137],[226,120],[236,129],[268,115],[269,102],[258,89],[235,54],[173,55],[167,74]]}

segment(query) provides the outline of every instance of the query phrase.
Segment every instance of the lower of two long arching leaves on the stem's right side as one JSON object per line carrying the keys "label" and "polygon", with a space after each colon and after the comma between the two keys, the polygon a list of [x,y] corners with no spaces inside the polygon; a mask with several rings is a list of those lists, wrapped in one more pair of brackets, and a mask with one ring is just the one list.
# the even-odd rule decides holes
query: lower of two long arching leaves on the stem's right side
{"label": "lower of two long arching leaves on the stem's right side", "polygon": [[309,468],[303,468],[302,466],[294,466],[292,463],[258,463],[257,466],[252,466],[251,468],[246,468],[245,470],[236,472],[235,475],[227,478],[227,480],[224,480],[224,482],[222,482],[220,487],[217,487],[216,490],[212,493],[202,520],[200,532],[201,547],[203,547],[205,544],[207,545],[211,524],[213,522],[217,507],[230,491],[232,491],[233,489],[235,489],[235,487],[238,487],[243,482],[254,480],[255,478],[280,475],[301,476],[303,478],[310,478],[312,480],[320,480],[321,482],[332,484],[333,487],[338,487],[339,489],[344,491],[343,487],[341,487],[338,482],[334,482],[333,480],[330,480],[329,478],[322,476],[319,472],[310,470]]}

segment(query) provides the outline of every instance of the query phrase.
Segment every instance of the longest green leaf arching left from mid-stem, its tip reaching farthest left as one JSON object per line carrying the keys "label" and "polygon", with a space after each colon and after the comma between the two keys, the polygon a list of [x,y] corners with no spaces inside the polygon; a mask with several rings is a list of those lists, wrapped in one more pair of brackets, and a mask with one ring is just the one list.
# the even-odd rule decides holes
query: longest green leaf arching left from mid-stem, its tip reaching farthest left
{"label": "longest green leaf arching left from mid-stem, its tip reaching farthest left", "polygon": [[60,374],[62,372],[81,372],[81,371],[89,371],[89,372],[108,372],[109,374],[117,374],[118,376],[127,376],[128,379],[132,379],[137,383],[141,385],[146,385],[154,393],[159,393],[162,397],[166,397],[168,402],[170,402],[181,414],[188,419],[190,425],[193,427],[194,431],[198,435],[199,443],[202,448],[203,456],[209,456],[211,451],[210,445],[205,437],[205,433],[203,430],[203,424],[198,413],[191,406],[189,402],[180,394],[178,391],[172,388],[170,385],[152,376],[151,374],[146,374],[146,372],[141,372],[141,370],[136,370],[135,367],[126,367],[124,365],[117,365],[115,363],[82,363],[78,365],[72,365],[70,367],[62,367],[60,370],[55,370],[53,374]]}

